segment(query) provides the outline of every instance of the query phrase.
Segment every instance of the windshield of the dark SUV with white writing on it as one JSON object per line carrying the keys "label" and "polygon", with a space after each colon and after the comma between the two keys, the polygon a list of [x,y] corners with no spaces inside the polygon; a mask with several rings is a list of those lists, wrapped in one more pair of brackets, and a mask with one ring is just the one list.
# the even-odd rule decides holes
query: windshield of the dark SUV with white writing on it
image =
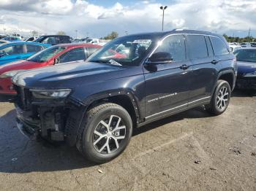
{"label": "windshield of the dark SUV with white writing on it", "polygon": [[152,36],[124,36],[106,44],[87,61],[119,66],[138,66],[156,40]]}

